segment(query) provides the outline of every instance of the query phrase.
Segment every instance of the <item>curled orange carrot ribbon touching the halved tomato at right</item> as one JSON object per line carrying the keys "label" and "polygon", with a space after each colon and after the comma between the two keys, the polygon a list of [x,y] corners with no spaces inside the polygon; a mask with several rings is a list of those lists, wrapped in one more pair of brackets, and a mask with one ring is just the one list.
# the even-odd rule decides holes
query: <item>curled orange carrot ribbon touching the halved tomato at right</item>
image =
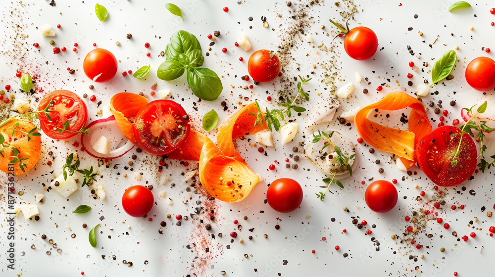
{"label": "curled orange carrot ribbon touching the halved tomato at right", "polygon": [[[412,109],[408,120],[409,131],[390,128],[367,118],[373,109],[395,111],[406,107]],[[408,160],[401,159],[406,166],[411,166],[410,162],[415,159],[416,143],[432,131],[423,103],[404,92],[390,92],[382,100],[363,107],[356,113],[354,123],[359,136],[368,144]]]}

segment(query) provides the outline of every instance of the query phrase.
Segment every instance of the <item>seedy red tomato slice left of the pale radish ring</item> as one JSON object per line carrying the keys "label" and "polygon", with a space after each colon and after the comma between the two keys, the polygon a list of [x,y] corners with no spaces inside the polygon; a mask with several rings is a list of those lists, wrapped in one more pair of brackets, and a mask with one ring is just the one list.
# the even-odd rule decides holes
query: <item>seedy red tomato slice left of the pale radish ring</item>
{"label": "seedy red tomato slice left of the pale radish ring", "polygon": [[66,90],[47,93],[37,112],[41,129],[52,139],[74,137],[88,119],[88,109],[81,97]]}

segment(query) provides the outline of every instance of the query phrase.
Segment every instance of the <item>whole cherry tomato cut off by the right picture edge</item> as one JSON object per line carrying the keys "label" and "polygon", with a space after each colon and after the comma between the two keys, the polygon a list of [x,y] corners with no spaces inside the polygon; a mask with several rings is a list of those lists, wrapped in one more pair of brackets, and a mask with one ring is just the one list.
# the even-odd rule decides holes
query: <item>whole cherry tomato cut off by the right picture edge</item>
{"label": "whole cherry tomato cut off by the right picture edge", "polygon": [[489,57],[477,57],[466,67],[466,81],[480,92],[495,88],[495,61]]}

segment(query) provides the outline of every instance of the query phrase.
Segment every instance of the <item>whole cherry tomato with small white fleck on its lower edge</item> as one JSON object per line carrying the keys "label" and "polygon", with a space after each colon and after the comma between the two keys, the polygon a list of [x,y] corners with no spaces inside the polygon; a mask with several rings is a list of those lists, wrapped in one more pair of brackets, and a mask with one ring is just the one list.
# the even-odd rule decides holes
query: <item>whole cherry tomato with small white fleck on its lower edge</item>
{"label": "whole cherry tomato with small white fleck on its lower edge", "polygon": [[103,83],[117,73],[117,59],[108,50],[96,48],[84,58],[84,73],[95,82]]}

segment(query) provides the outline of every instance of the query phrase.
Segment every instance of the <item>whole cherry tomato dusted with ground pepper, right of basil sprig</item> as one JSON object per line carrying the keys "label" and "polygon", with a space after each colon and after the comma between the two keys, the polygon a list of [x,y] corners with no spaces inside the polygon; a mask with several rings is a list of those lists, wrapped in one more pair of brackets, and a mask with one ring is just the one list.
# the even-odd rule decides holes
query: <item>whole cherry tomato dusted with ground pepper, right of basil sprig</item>
{"label": "whole cherry tomato dusted with ground pepper, right of basil sprig", "polygon": [[266,49],[252,53],[247,62],[247,71],[258,82],[269,82],[280,72],[280,60],[273,51]]}

